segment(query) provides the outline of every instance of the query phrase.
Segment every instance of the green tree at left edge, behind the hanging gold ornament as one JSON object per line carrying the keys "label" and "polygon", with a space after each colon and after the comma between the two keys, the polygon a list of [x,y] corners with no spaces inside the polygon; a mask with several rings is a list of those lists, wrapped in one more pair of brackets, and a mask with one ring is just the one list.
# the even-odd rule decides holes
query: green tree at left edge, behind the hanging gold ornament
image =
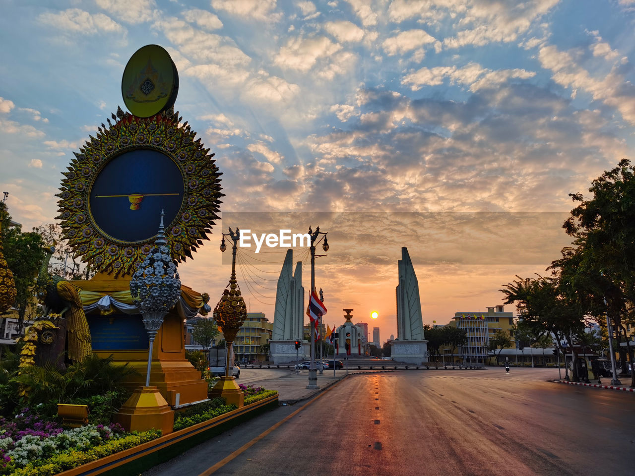
{"label": "green tree at left edge, behind the hanging gold ornament", "polygon": [[0,202],[0,220],[4,258],[13,272],[17,291],[15,307],[18,309],[19,334],[22,332],[25,315],[34,312],[33,286],[44,259],[43,242],[36,232],[22,232],[22,227],[11,226],[11,216],[3,202]]}

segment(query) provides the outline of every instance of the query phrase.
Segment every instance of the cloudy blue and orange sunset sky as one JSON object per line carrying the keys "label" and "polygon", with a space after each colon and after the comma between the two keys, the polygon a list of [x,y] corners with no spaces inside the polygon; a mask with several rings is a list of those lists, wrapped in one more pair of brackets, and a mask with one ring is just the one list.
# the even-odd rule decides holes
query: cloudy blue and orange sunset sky
{"label": "cloudy blue and orange sunset sky", "polygon": [[[353,308],[382,341],[397,336],[403,246],[424,324],[485,312],[570,242],[568,194],[632,157],[635,0],[0,5],[0,191],[13,219],[55,221],[60,172],[123,107],[130,56],[159,44],[178,69],[175,109],[223,173],[223,220],[179,267],[212,305],[231,272],[221,229],[319,225],[327,324]],[[239,249],[250,312],[273,317],[285,251]],[[307,254],[294,260],[308,294]]]}

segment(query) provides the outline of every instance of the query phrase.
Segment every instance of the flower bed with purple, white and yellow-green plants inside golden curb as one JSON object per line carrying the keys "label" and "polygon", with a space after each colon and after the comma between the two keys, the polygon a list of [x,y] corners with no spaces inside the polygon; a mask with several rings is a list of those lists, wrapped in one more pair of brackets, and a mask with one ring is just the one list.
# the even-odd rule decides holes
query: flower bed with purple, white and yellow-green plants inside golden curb
{"label": "flower bed with purple, white and yellow-green plants inside golden curb", "polygon": [[123,433],[117,425],[62,430],[55,423],[18,414],[9,423],[0,421],[0,475],[138,475],[278,405],[274,390],[244,390],[242,408],[222,402],[187,408],[177,414],[175,432],[164,436],[157,430]]}

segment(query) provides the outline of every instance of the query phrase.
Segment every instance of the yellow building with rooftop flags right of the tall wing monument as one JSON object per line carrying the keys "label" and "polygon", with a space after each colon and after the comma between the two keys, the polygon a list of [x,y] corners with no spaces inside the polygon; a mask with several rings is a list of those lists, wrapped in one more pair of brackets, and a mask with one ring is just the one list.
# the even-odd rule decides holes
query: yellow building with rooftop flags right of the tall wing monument
{"label": "yellow building with rooftop flags right of the tall wing monument", "polygon": [[464,329],[467,333],[466,345],[454,349],[449,345],[441,348],[444,360],[448,363],[487,364],[490,360],[488,346],[494,334],[504,331],[514,340],[514,313],[505,312],[504,306],[488,307],[487,312],[455,312],[453,321],[446,325]]}

